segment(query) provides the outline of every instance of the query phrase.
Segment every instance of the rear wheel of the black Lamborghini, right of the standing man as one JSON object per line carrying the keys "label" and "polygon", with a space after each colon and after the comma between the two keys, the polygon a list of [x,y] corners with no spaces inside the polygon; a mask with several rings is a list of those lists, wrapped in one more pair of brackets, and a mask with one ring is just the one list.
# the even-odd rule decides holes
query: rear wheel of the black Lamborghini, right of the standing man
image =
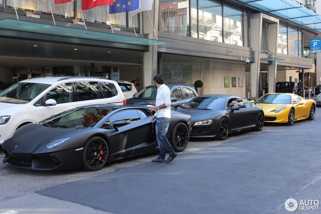
{"label": "rear wheel of the black Lamborghini, right of the standing man", "polygon": [[175,152],[184,151],[184,149],[187,147],[188,139],[189,131],[185,123],[180,122],[176,124],[170,138],[170,144]]}

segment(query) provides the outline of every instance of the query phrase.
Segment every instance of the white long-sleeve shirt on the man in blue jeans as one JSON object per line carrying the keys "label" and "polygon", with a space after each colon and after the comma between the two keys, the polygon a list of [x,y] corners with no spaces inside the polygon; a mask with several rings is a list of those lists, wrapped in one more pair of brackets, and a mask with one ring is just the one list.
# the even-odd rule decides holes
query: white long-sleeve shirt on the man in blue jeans
{"label": "white long-sleeve shirt on the man in blue jeans", "polygon": [[167,85],[162,84],[159,88],[157,88],[157,95],[156,95],[156,106],[160,106],[161,104],[165,103],[167,106],[166,108],[156,110],[154,114],[156,117],[166,117],[170,118],[170,89]]}

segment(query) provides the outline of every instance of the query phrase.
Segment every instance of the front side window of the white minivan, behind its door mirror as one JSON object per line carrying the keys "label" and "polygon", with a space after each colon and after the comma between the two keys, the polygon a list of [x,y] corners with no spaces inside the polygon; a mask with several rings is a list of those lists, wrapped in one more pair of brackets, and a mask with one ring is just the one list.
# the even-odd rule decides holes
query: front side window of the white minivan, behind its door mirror
{"label": "front side window of the white minivan, behind its door mirror", "polygon": [[51,89],[46,95],[46,100],[53,99],[60,103],[73,102],[71,83],[64,83]]}

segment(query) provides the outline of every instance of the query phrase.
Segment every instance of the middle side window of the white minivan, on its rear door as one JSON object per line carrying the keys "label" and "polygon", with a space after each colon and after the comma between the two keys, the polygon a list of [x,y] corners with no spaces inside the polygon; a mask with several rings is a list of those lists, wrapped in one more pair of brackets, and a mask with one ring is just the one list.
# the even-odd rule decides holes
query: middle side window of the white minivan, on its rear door
{"label": "middle side window of the white minivan, on its rear door", "polygon": [[76,82],[75,88],[78,101],[95,100],[101,98],[98,82]]}

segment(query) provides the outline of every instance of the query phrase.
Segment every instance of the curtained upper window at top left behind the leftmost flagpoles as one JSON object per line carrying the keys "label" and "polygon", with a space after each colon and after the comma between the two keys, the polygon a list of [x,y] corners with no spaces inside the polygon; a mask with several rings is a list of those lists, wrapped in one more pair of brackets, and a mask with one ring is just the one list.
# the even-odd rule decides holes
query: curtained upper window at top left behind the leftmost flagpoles
{"label": "curtained upper window at top left behind the leftmost flagpoles", "polygon": [[[3,2],[0,0],[0,4]],[[55,16],[61,16],[65,18],[74,18],[74,4],[76,1],[55,4],[53,1],[50,3],[52,13]],[[14,4],[17,10],[23,10],[33,13],[51,14],[48,1],[42,0],[15,0]],[[13,1],[7,1],[8,8],[14,8]]]}

